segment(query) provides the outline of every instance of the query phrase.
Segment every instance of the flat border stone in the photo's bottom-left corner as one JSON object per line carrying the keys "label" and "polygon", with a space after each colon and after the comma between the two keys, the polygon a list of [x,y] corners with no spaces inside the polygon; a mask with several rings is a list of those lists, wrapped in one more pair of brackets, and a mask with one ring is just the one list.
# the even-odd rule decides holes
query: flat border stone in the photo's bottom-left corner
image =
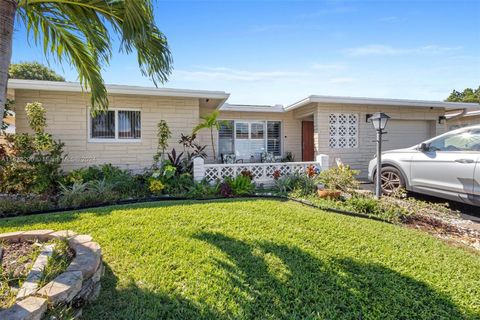
{"label": "flat border stone in the photo's bottom-left corner", "polygon": [[28,297],[0,312],[0,319],[40,320],[47,311],[47,299]]}

